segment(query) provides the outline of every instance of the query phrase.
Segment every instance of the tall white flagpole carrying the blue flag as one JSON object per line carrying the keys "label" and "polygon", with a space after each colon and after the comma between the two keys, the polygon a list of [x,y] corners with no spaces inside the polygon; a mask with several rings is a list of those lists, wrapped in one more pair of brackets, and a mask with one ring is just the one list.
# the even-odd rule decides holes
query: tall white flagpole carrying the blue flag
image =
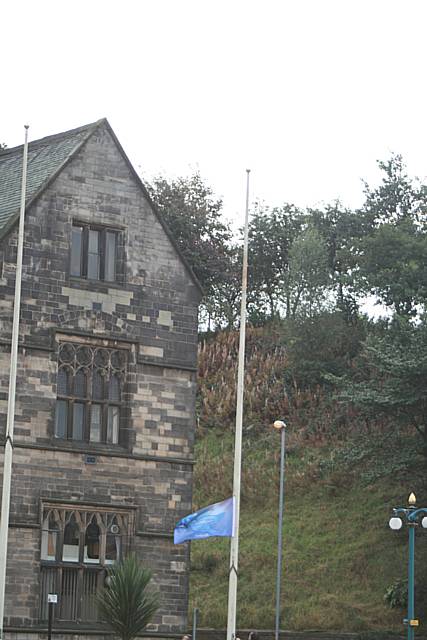
{"label": "tall white flagpole carrying the blue flag", "polygon": [[239,366],[237,373],[236,435],[234,443],[233,496],[235,502],[234,535],[230,546],[230,574],[228,583],[227,640],[236,636],[237,571],[239,564],[240,476],[242,469],[243,387],[245,373],[246,290],[248,282],[248,221],[249,173],[246,169],[245,236],[243,243],[242,301],[240,307]]}

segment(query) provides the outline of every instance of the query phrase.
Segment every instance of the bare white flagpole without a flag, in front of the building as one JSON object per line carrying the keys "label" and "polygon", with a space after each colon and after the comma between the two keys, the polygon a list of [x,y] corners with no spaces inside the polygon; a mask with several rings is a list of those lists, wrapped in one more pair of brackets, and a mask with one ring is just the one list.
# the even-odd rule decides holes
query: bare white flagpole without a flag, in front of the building
{"label": "bare white flagpole without a flag, in front of the building", "polygon": [[21,311],[22,254],[24,248],[25,194],[27,185],[28,125],[25,125],[22,161],[21,208],[19,213],[18,250],[16,256],[15,302],[13,306],[12,343],[10,346],[9,398],[6,440],[4,444],[3,490],[0,520],[0,639],[3,638],[4,597],[6,588],[7,540],[9,533],[10,484],[12,475],[13,429],[15,426],[16,365],[18,360],[19,317]]}

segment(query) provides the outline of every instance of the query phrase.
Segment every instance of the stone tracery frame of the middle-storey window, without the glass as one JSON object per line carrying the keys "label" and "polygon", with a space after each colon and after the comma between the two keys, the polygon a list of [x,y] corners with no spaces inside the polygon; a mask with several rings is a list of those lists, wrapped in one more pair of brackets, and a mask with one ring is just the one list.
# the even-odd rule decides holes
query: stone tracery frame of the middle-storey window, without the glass
{"label": "stone tracery frame of the middle-storey window, without the glass", "polygon": [[[127,431],[125,427],[127,417],[127,377],[129,356],[131,345],[115,340],[96,340],[83,338],[82,336],[57,335],[57,396],[55,403],[55,415],[53,421],[53,437],[56,443],[68,442],[73,444],[84,444],[88,446],[124,446],[124,433]],[[64,358],[65,349],[71,350],[72,357]],[[105,366],[98,366],[96,360],[98,356],[105,354]],[[114,356],[120,354],[123,361],[120,366],[114,366]],[[87,357],[86,357],[87,355]],[[83,357],[81,357],[83,356]],[[61,371],[65,371],[68,380],[68,389],[64,392],[60,388]],[[93,393],[93,383],[95,374],[103,374],[101,384],[103,386],[103,398],[95,397]],[[80,395],[75,393],[77,375],[84,376],[85,393]],[[111,380],[117,382],[119,390],[119,398],[110,397]],[[82,437],[73,437],[73,416],[75,404],[83,405],[83,426]],[[91,439],[91,426],[94,424],[93,409],[99,407],[100,414],[100,437],[99,439]],[[61,420],[60,407],[65,410],[66,426],[65,433],[58,433],[58,422]],[[110,408],[116,408],[118,412],[118,429],[117,438],[109,437]]]}

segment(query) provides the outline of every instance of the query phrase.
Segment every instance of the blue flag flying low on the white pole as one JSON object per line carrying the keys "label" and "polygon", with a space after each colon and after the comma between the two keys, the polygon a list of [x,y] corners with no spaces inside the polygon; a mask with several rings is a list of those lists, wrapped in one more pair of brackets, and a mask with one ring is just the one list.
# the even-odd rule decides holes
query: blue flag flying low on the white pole
{"label": "blue flag flying low on the white pole", "polygon": [[234,498],[209,505],[182,518],[175,526],[174,543],[234,535]]}

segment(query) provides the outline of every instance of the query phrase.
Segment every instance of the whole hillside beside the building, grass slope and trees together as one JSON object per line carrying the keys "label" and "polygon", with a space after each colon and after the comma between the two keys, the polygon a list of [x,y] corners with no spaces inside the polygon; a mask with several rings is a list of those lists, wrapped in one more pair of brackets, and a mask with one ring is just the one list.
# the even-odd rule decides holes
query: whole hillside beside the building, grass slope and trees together
{"label": "whole hillside beside the building, grass slope and trees together", "polygon": [[[406,532],[387,525],[410,491],[427,505],[427,185],[398,154],[378,167],[356,210],[251,207],[240,626],[273,626],[281,418],[284,627],[402,630]],[[232,492],[242,235],[198,174],[149,189],[205,291],[197,508]],[[364,315],[367,299],[386,319]],[[422,619],[427,533],[417,537]],[[194,542],[191,558],[192,604],[202,624],[224,626],[228,541]]]}

